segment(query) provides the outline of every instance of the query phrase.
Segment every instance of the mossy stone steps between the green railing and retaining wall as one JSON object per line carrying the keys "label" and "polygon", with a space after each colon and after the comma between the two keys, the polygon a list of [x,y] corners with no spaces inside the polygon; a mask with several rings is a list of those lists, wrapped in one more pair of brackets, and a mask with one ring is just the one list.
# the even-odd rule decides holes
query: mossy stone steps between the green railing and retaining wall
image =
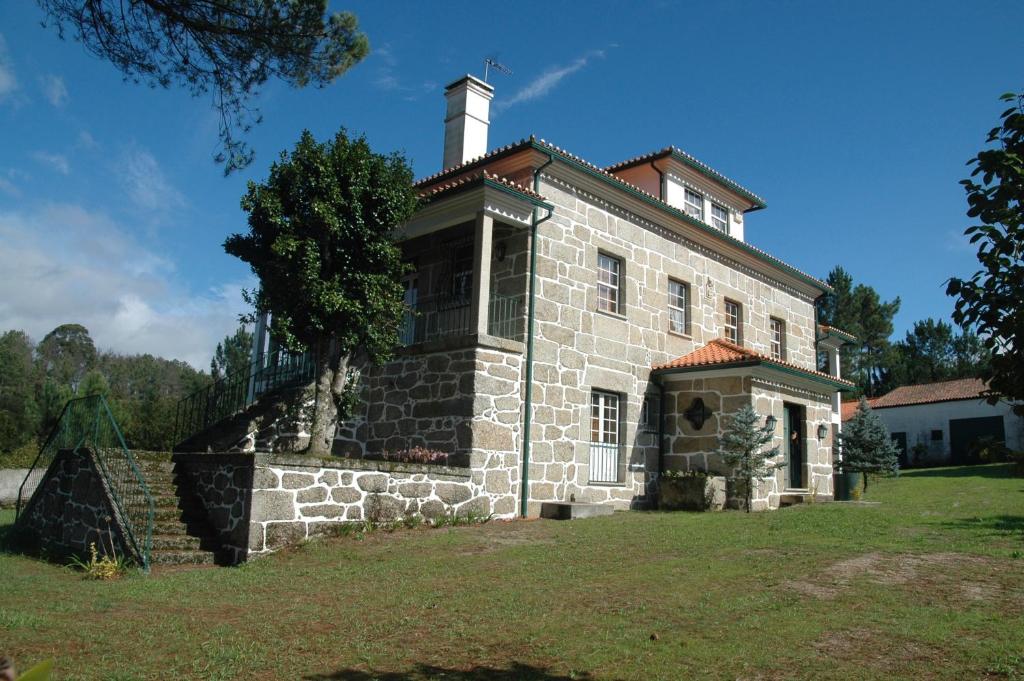
{"label": "mossy stone steps between the green railing and retaining wall", "polygon": [[166,455],[136,455],[136,462],[153,495],[154,565],[212,565],[218,562],[220,542],[206,520],[202,504],[183,488]]}

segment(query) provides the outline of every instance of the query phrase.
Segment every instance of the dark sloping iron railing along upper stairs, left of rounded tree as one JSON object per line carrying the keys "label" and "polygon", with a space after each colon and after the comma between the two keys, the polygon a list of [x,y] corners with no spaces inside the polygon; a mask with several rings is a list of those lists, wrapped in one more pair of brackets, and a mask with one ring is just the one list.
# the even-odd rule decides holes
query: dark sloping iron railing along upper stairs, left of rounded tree
{"label": "dark sloping iron railing along upper stairs, left of rounded tree", "polygon": [[234,416],[278,388],[309,383],[315,378],[309,352],[279,350],[246,372],[214,381],[178,401],[174,414],[174,441],[181,443],[207,428]]}

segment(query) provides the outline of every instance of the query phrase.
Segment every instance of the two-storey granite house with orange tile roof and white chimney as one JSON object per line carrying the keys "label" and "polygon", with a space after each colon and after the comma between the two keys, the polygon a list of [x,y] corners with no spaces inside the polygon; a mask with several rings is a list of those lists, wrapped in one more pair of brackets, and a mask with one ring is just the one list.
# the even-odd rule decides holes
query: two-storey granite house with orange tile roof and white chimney
{"label": "two-storey granite house with orange tile roof and white chimney", "polygon": [[493,95],[445,89],[443,170],[399,235],[403,347],[362,372],[334,453],[444,452],[497,517],[625,509],[662,470],[726,472],[718,437],[753,405],[788,464],[755,507],[830,495],[850,337],[815,323],[826,285],[746,242],[764,200],[674,146],[607,168],[532,136],[488,151]]}

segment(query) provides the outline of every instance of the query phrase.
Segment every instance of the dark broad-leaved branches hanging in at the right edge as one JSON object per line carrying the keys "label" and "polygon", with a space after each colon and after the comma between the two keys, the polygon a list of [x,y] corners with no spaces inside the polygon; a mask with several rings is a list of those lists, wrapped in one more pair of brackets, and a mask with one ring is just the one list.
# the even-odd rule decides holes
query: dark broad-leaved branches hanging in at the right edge
{"label": "dark broad-leaved branches hanging in at the right edge", "polygon": [[981,269],[970,279],[953,278],[946,293],[955,299],[953,318],[974,326],[992,351],[988,397],[1017,401],[1024,415],[1024,93],[1007,93],[1012,105],[988,132],[990,148],[968,162],[968,216],[980,224],[965,235],[978,245]]}

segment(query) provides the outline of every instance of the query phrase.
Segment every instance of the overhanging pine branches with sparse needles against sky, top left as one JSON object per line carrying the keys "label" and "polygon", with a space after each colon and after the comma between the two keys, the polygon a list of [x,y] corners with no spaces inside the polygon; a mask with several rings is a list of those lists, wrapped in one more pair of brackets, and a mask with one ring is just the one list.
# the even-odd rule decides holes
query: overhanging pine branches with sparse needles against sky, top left
{"label": "overhanging pine branches with sparse needles against sky, top left", "polygon": [[250,102],[268,79],[324,86],[370,49],[355,16],[327,15],[327,0],[37,1],[126,80],[212,95],[225,173],[252,162],[239,133],[260,121]]}

